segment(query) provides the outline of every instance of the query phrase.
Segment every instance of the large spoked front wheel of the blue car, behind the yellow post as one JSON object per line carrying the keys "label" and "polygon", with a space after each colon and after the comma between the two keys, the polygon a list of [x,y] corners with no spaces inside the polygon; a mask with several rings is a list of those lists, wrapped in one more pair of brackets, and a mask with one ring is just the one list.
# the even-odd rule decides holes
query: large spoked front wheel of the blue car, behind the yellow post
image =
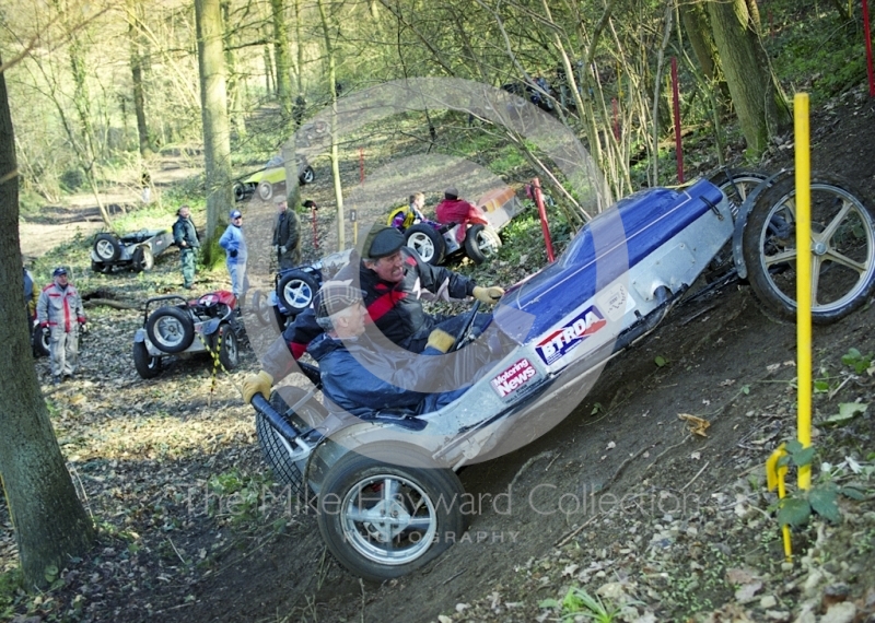
{"label": "large spoked front wheel of the blue car, behind the yellow post", "polygon": [[[762,192],[742,237],[748,279],[767,312],[796,317],[796,186],[788,176]],[[875,289],[875,218],[848,181],[812,174],[812,320],[835,322]]]}

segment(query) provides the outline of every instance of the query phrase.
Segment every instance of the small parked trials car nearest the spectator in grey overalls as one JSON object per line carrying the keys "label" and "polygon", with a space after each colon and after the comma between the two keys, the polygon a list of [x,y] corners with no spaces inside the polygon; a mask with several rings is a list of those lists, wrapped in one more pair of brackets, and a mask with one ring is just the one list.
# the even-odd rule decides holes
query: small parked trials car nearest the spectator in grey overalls
{"label": "small parked trials car nearest the spectator in grey overalls", "polygon": [[143,326],[133,334],[133,367],[142,378],[154,378],[166,356],[215,353],[226,371],[234,369],[242,337],[237,309],[236,298],[224,290],[191,299],[178,294],[150,298]]}

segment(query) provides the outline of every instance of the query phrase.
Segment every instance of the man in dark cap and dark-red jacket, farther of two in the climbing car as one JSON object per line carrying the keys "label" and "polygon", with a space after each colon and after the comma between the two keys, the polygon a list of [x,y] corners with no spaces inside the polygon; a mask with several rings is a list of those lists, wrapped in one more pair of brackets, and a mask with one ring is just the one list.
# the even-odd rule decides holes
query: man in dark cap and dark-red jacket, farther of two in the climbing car
{"label": "man in dark cap and dark-red jacket, farther of two in the climbing car", "polygon": [[[494,304],[504,294],[498,286],[480,286],[444,267],[425,263],[411,248],[405,246],[404,235],[394,227],[376,227],[365,238],[360,261],[357,256],[343,267],[335,281],[346,281],[364,291],[368,310],[366,325],[373,325],[390,342],[421,353],[434,329],[456,334],[465,316],[431,315],[422,307],[422,299],[463,299],[474,296]],[[478,316],[477,327],[482,328],[490,315]],[[294,360],[301,357],[310,342],[323,332],[313,309],[299,314],[287,327],[282,337],[271,344],[261,360],[262,372],[279,379],[294,369]],[[248,401],[247,401],[248,402]]]}

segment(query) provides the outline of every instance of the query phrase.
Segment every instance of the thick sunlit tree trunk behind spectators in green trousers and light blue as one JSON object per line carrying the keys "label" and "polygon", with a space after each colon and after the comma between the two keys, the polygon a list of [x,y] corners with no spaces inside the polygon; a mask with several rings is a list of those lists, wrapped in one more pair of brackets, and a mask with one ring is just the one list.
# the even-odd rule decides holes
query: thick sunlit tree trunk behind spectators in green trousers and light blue
{"label": "thick sunlit tree trunk behind spectators in green trousers and light blue", "polygon": [[[225,61],[222,49],[224,30],[220,0],[195,0],[195,19],[207,174],[206,238],[209,242],[215,235],[219,214],[226,214],[234,203],[231,192],[231,134],[228,125]],[[210,248],[209,245],[205,246]]]}

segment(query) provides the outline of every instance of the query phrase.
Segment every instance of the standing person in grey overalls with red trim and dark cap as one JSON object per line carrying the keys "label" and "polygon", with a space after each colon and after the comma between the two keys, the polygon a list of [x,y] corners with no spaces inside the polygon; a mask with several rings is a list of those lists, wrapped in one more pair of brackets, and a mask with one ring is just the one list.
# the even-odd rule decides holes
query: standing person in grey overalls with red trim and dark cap
{"label": "standing person in grey overalls with red trim and dark cap", "polygon": [[56,268],[52,282],[39,293],[36,317],[49,338],[51,383],[73,377],[79,356],[79,329],[85,331],[85,310],[75,286],[67,280],[67,269]]}

